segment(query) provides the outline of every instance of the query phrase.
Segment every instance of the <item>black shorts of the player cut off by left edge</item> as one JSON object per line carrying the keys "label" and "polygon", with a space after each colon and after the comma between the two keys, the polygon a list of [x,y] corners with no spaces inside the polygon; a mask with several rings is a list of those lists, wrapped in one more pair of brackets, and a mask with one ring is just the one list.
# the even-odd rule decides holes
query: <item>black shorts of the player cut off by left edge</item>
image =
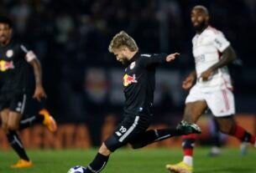
{"label": "black shorts of the player cut off by left edge", "polygon": [[27,95],[24,93],[1,94],[0,95],[0,111],[10,109],[20,114],[24,113]]}

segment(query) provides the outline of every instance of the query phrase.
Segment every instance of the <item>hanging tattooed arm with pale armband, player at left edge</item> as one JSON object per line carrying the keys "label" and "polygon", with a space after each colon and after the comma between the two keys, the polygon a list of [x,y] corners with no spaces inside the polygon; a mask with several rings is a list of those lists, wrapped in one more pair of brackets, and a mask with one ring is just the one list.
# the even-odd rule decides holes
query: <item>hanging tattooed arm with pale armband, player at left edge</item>
{"label": "hanging tattooed arm with pale armband, player at left edge", "polygon": [[33,51],[28,51],[23,45],[21,48],[24,50],[25,59],[34,69],[34,81],[35,81],[35,90],[34,90],[34,99],[42,99],[46,98],[46,94],[44,92],[44,87],[42,83],[42,69],[39,59],[37,59],[36,55]]}

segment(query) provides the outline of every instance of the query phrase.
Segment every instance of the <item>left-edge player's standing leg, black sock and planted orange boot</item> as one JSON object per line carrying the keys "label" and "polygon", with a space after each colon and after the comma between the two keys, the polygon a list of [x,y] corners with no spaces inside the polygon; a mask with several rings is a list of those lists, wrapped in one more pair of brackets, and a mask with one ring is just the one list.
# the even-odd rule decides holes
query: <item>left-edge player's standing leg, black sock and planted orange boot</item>
{"label": "left-edge player's standing leg, black sock and planted orange boot", "polygon": [[22,114],[14,112],[12,110],[8,113],[8,142],[13,147],[13,150],[18,154],[20,160],[17,164],[12,165],[13,168],[23,168],[32,166],[32,162],[29,160],[26,151],[24,150],[24,145],[19,139],[16,130],[18,130],[19,120]]}

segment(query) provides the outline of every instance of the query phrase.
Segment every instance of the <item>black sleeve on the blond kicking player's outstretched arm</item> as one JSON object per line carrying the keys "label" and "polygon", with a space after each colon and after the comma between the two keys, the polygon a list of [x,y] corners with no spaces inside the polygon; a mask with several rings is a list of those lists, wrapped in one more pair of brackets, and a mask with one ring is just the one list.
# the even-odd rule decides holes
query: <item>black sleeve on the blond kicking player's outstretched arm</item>
{"label": "black sleeve on the blond kicking player's outstretched arm", "polygon": [[167,54],[166,53],[141,54],[140,57],[141,57],[141,64],[147,67],[150,65],[165,63]]}

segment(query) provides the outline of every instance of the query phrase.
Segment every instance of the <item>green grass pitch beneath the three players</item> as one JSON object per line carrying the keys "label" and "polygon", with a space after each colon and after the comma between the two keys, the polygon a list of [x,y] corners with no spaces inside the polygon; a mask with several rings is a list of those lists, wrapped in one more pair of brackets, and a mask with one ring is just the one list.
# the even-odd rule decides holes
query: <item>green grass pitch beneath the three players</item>
{"label": "green grass pitch beneath the three players", "polygon": [[[241,156],[238,149],[223,149],[221,156],[209,157],[208,148],[196,148],[195,173],[256,173],[256,150]],[[97,150],[29,150],[34,167],[13,170],[17,161],[13,150],[0,150],[0,173],[66,173],[71,166],[86,165]],[[106,173],[168,173],[165,164],[181,159],[180,148],[117,150],[110,158]]]}

